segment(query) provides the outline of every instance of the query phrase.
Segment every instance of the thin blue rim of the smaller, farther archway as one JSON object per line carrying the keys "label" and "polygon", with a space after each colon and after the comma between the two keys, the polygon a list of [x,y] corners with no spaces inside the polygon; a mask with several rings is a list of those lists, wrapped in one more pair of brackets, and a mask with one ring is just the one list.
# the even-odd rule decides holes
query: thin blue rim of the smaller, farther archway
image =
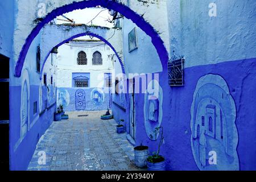
{"label": "thin blue rim of the smaller, farther archway", "polygon": [[[115,50],[115,48],[112,46],[112,44],[110,44],[108,42],[108,40],[102,38],[102,36],[100,35],[97,35],[97,34],[93,34],[92,32],[85,32],[85,33],[82,33],[82,34],[77,34],[77,35],[74,35],[72,36],[71,38],[67,39],[67,40],[64,40],[63,42],[57,44],[55,47],[60,47],[61,45],[63,45],[64,43],[68,42],[69,40],[73,40],[73,39],[76,39],[76,38],[79,38],[80,36],[86,36],[86,35],[89,35],[89,36],[93,36],[95,38],[98,38],[100,40],[102,40],[104,43],[106,43],[110,48],[112,48],[112,50],[114,51],[115,55],[117,55],[117,58],[119,60],[119,63],[121,64],[121,68],[122,68],[122,73],[125,74],[125,67],[123,65],[123,62],[120,58],[120,56],[118,55],[117,51]],[[53,47],[52,47],[53,48]],[[47,61],[47,58],[49,57],[49,54],[51,53],[51,51],[48,52],[47,56],[44,58],[44,61],[43,61],[43,64],[42,64],[42,68],[41,68],[41,72],[40,72],[40,80],[42,80],[42,74],[43,74],[43,69],[44,69],[44,64],[46,64],[46,61]]]}

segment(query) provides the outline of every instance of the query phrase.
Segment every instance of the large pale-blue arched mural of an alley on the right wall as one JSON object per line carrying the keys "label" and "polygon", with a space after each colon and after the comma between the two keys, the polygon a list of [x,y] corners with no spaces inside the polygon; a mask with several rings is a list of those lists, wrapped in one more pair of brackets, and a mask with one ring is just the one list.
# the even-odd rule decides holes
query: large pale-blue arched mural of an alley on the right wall
{"label": "large pale-blue arched mural of an alley on the right wall", "polygon": [[[235,121],[236,105],[224,78],[212,74],[201,77],[191,105],[191,147],[200,170],[240,169]],[[209,162],[214,157],[217,164]]]}

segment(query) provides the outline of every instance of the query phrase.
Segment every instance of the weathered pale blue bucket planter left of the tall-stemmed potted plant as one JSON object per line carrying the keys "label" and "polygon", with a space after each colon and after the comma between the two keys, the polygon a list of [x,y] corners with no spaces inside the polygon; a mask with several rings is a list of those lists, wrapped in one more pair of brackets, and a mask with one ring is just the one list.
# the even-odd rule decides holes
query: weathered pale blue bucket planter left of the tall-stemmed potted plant
{"label": "weathered pale blue bucket planter left of the tall-stemmed potted plant", "polygon": [[143,168],[147,166],[148,146],[134,147],[134,162],[137,167]]}

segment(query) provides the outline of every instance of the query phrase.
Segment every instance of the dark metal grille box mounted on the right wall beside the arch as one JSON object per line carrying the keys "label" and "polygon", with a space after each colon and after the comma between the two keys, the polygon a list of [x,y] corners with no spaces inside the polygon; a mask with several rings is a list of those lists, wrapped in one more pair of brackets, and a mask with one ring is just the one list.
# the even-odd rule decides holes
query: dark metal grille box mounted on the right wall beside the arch
{"label": "dark metal grille box mounted on the right wall beside the arch", "polygon": [[175,53],[168,61],[168,82],[170,86],[184,86],[184,62],[183,56]]}

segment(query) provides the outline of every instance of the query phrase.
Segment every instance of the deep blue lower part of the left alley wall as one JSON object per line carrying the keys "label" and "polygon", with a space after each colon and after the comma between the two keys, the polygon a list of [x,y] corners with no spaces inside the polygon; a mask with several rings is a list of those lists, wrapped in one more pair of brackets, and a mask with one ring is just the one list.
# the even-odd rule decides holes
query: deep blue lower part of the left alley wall
{"label": "deep blue lower part of the left alley wall", "polygon": [[[45,89],[44,89],[45,90]],[[46,90],[45,90],[46,91]],[[38,100],[38,86],[30,86],[30,121],[33,121],[36,117],[35,124],[27,131],[26,136],[22,142],[17,146],[17,142],[20,138],[20,86],[10,87],[10,155],[11,170],[26,170],[27,166],[34,154],[36,144],[44,132],[48,129],[53,121],[53,113],[55,112],[55,104],[48,105],[46,110],[42,111],[39,116],[39,109],[34,115],[32,107],[34,100]],[[46,93],[44,93],[46,94]],[[39,107],[38,107],[39,108]],[[16,111],[16,114],[14,114]],[[16,146],[16,147],[15,147]]]}

